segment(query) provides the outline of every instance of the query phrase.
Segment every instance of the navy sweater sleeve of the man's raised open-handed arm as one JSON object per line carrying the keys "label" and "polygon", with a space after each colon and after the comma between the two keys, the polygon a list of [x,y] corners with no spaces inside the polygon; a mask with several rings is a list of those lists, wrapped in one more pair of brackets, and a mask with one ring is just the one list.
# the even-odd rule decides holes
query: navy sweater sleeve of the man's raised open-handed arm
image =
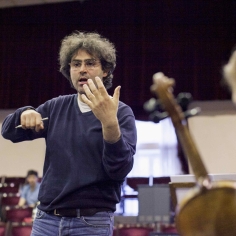
{"label": "navy sweater sleeve of the man's raised open-handed arm", "polygon": [[128,106],[118,112],[121,137],[116,143],[104,140],[103,165],[110,178],[124,180],[133,168],[137,131],[135,118]]}

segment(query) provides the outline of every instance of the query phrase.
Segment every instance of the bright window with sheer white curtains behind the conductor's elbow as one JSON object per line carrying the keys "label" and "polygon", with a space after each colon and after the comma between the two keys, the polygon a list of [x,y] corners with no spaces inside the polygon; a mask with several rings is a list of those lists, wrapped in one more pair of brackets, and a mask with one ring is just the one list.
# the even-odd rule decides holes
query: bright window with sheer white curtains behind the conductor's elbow
{"label": "bright window with sheer white curtains behind the conductor's elbow", "polygon": [[159,123],[136,120],[137,149],[129,177],[182,174],[177,156],[177,138],[171,119]]}

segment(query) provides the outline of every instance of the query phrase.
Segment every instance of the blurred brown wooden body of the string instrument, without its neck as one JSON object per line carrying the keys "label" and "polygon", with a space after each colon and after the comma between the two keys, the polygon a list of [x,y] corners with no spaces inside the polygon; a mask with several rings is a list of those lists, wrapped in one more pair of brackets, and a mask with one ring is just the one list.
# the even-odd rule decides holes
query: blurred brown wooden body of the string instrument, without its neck
{"label": "blurred brown wooden body of the string instrument, without its neck", "polygon": [[195,187],[176,209],[181,236],[236,236],[236,183]]}

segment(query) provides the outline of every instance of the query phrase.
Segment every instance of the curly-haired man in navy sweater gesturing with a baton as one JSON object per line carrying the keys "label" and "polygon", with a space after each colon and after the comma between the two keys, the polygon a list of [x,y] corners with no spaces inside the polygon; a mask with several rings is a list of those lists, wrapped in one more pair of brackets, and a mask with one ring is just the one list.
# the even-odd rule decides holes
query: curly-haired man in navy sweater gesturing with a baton
{"label": "curly-haired man in navy sweater gesturing with a baton", "polygon": [[[135,118],[111,87],[114,45],[96,33],[62,41],[60,71],[77,94],[10,114],[2,135],[12,142],[45,138],[46,154],[32,236],[112,235],[121,185],[133,167]],[[43,118],[48,120],[42,121]],[[22,128],[15,128],[19,124]]]}

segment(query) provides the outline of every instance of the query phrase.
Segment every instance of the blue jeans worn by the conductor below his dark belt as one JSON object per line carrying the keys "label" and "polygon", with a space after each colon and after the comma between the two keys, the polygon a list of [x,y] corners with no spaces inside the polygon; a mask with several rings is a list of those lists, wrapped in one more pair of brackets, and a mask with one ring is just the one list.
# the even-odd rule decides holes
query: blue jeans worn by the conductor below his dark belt
{"label": "blue jeans worn by the conductor below his dark belt", "polygon": [[47,214],[38,209],[31,236],[112,236],[113,223],[112,212],[72,218]]}

